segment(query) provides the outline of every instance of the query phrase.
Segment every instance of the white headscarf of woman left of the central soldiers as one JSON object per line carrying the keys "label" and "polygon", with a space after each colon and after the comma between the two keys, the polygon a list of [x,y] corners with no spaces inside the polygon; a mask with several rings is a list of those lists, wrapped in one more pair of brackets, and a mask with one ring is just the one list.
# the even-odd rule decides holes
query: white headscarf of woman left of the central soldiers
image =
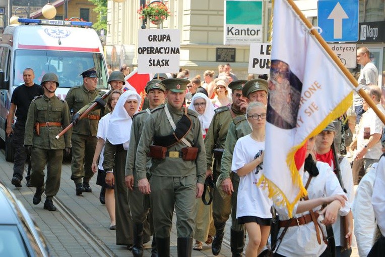
{"label": "white headscarf of woman left of the central soldiers", "polygon": [[107,130],[108,141],[111,144],[123,144],[125,150],[129,148],[131,125],[133,123],[133,120],[124,109],[124,104],[128,99],[138,99],[138,107],[135,113],[138,112],[142,97],[135,91],[125,91],[117,100]]}

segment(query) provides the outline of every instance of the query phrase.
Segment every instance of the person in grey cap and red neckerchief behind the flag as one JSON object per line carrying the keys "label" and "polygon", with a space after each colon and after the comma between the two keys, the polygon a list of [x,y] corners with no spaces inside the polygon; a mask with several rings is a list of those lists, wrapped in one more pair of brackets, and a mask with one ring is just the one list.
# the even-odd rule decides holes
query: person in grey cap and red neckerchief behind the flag
{"label": "person in grey cap and red neckerchief behind the flag", "polygon": [[[333,142],[335,135],[336,126],[334,123],[331,123],[315,137],[316,160],[330,165],[336,174],[341,187],[344,189],[345,193],[347,193],[349,204],[352,204],[354,200],[352,169],[347,158],[339,157],[337,154]],[[347,216],[338,215],[336,222],[333,224],[333,230],[331,231],[334,233],[336,256],[350,256],[352,252],[352,230],[352,212],[350,211]],[[328,237],[330,237],[329,231]],[[330,240],[329,246],[331,246]]]}

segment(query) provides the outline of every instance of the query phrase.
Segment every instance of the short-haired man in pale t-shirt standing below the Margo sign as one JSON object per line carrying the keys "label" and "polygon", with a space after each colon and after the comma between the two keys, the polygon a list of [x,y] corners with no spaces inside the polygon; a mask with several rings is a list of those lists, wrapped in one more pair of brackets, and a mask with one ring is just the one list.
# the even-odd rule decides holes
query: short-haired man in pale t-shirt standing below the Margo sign
{"label": "short-haired man in pale t-shirt standing below the Margo sign", "polygon": [[[367,47],[360,47],[357,50],[357,64],[360,64],[362,69],[358,78],[358,85],[363,86],[364,89],[366,89],[367,85],[377,85],[378,82],[378,70],[370,61],[369,49]],[[363,113],[362,101],[362,97],[356,91],[354,91],[353,107],[357,114],[356,124],[360,122]]]}

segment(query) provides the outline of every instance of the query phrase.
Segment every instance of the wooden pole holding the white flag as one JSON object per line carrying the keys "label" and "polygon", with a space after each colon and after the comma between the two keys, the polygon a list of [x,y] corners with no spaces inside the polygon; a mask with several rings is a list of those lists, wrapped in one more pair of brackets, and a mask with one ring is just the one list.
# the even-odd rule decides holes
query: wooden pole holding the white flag
{"label": "wooden pole holding the white flag", "polygon": [[[329,56],[333,59],[333,61],[337,64],[337,66],[341,69],[341,71],[345,74],[345,76],[349,79],[349,81],[355,86],[358,87],[357,80],[353,77],[353,75],[349,72],[348,69],[342,64],[342,62],[338,59],[336,54],[330,48],[328,43],[324,40],[324,38],[319,35],[318,31],[313,27],[313,25],[306,19],[306,17],[302,14],[301,10],[297,7],[297,5],[293,2],[293,0],[286,0],[287,3],[291,6],[291,8],[295,11],[295,13],[299,16],[303,23],[306,24],[307,28],[310,29],[310,33],[318,40],[318,42],[324,47]],[[385,115],[379,111],[379,109],[374,104],[373,100],[367,95],[367,93],[360,88],[358,93],[362,98],[367,102],[367,104],[373,109],[378,118],[385,124]]]}

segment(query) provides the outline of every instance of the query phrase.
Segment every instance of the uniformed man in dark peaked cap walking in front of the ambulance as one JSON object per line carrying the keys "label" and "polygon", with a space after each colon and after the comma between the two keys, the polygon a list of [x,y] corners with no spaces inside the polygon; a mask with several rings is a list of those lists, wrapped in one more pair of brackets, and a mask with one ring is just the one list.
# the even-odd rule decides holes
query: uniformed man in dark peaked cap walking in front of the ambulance
{"label": "uniformed man in dark peaked cap walking in front of the ambulance", "polygon": [[81,120],[79,120],[79,111],[93,101],[101,92],[97,88],[99,78],[95,67],[82,72],[79,76],[83,77],[83,84],[72,87],[66,96],[68,106],[74,114],[72,121],[76,125],[73,128],[71,138],[73,146],[71,179],[75,182],[76,195],[82,195],[83,192],[92,192],[89,182],[94,175],[91,166],[97,143],[98,122],[100,120],[100,109],[92,110]]}

